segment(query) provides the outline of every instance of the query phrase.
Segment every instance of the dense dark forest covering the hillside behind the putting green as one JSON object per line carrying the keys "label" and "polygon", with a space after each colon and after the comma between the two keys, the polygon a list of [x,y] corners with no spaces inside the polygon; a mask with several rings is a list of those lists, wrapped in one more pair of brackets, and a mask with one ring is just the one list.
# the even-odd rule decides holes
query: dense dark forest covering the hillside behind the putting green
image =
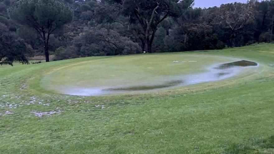
{"label": "dense dark forest covering the hillside behind the putting green", "polygon": [[[49,22],[45,12],[50,15],[54,10],[50,2],[24,1],[44,1],[45,5],[33,7],[40,7],[42,17]],[[63,12],[64,25],[54,31],[39,31],[32,21],[18,22],[20,14],[26,17],[26,13],[12,12],[19,2],[0,0],[1,64],[27,62],[25,57],[45,55],[45,50],[54,55],[53,60],[60,60],[144,51],[223,49],[272,42],[274,35],[274,0],[210,8],[195,8],[194,0],[59,0],[69,13]]]}

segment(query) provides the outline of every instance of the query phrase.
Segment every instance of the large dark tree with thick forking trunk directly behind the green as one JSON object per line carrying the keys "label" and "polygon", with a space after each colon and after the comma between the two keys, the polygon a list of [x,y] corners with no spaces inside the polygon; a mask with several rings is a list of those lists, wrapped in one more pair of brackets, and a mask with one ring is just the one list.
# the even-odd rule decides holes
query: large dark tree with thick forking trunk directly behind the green
{"label": "large dark tree with thick forking trunk directly behind the green", "polygon": [[[142,49],[151,52],[158,25],[168,16],[177,16],[180,11],[191,6],[190,0],[124,0],[123,14],[129,17],[135,27],[136,35],[142,42]],[[138,28],[140,27],[140,28]]]}

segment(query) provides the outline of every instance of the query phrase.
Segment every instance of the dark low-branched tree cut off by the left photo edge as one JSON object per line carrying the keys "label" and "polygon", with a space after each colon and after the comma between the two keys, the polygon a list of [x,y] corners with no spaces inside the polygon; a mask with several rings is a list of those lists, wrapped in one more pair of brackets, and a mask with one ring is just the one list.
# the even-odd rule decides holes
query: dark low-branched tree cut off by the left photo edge
{"label": "dark low-branched tree cut off by the left photo edge", "polygon": [[8,30],[7,26],[0,23],[0,65],[12,65],[14,61],[28,63],[25,57],[26,45],[16,38],[14,32]]}

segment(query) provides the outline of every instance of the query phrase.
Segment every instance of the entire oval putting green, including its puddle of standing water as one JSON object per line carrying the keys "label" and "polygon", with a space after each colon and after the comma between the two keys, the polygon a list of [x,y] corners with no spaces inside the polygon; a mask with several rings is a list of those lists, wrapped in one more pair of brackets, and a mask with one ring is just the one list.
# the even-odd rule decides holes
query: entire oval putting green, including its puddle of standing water
{"label": "entire oval putting green, including its puddle of standing water", "polygon": [[45,74],[45,89],[67,95],[144,93],[212,82],[256,67],[251,61],[194,54],[135,55],[81,62]]}

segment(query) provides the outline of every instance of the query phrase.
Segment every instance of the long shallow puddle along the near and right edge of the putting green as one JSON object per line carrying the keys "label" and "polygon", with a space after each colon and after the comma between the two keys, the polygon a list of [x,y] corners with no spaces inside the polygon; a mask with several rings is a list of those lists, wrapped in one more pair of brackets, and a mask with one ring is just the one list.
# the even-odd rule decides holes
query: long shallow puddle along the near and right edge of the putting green
{"label": "long shallow puddle along the near and right edge of the putting green", "polygon": [[[177,62],[177,61],[176,61]],[[159,89],[167,89],[176,86],[186,86],[191,84],[213,82],[223,80],[229,77],[236,76],[246,68],[257,67],[258,63],[240,60],[231,63],[218,63],[211,65],[206,68],[206,72],[188,74],[188,75],[177,75],[168,78],[162,84],[155,85],[138,85],[138,86],[116,86],[116,87],[63,87],[61,93],[67,95],[78,95],[78,96],[97,96],[107,94],[121,94],[121,93],[138,93],[144,91],[155,91]]]}

